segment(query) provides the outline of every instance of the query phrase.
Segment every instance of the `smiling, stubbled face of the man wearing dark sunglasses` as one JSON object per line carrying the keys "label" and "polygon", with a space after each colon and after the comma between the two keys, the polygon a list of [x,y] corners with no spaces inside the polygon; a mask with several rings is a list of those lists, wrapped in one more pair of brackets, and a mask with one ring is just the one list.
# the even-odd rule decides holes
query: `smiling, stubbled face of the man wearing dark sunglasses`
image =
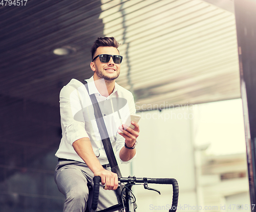
{"label": "smiling, stubbled face of the man wearing dark sunglasses", "polygon": [[[108,55],[119,55],[118,50],[112,46],[100,46],[94,57],[100,54]],[[94,71],[94,80],[104,79],[106,81],[112,81],[118,78],[120,74],[120,64],[116,64],[111,57],[110,61],[107,63],[100,62],[99,57],[97,57],[93,62],[91,62],[91,69]]]}

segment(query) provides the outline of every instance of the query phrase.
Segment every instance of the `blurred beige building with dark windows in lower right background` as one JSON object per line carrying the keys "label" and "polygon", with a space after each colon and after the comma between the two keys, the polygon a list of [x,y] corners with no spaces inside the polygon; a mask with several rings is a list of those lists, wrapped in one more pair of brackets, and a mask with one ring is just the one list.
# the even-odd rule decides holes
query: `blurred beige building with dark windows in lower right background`
{"label": "blurred beige building with dark windows in lower right background", "polygon": [[212,211],[250,211],[246,155],[205,155],[201,153],[198,186],[202,189],[204,205]]}

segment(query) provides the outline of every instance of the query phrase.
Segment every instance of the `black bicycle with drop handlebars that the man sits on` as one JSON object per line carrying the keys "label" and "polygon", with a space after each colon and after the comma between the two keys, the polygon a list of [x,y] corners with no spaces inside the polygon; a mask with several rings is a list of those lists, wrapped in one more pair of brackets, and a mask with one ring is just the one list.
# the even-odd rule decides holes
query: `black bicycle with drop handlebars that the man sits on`
{"label": "black bicycle with drop handlebars that the man sits on", "polygon": [[[98,198],[99,198],[99,183],[101,182],[100,176],[95,176],[93,178],[94,181],[94,190],[93,190],[93,200],[92,200],[92,209],[95,210],[98,205]],[[124,184],[126,183],[126,184]],[[134,212],[134,205],[133,203],[136,201],[134,194],[132,193],[132,186],[136,184],[144,185],[144,189],[151,190],[158,192],[160,191],[156,189],[152,189],[148,187],[148,183],[154,184],[172,184],[173,185],[173,201],[172,207],[169,209],[169,212],[175,212],[177,210],[178,205],[178,196],[179,196],[179,185],[176,179],[174,178],[136,178],[134,177],[118,177],[118,186],[122,188],[121,191],[121,199],[122,203],[113,205],[111,207],[105,208],[103,210],[99,210],[97,212],[112,212],[116,210],[123,209],[123,212]],[[124,193],[125,191],[125,193]],[[125,194],[125,197],[123,197]]]}

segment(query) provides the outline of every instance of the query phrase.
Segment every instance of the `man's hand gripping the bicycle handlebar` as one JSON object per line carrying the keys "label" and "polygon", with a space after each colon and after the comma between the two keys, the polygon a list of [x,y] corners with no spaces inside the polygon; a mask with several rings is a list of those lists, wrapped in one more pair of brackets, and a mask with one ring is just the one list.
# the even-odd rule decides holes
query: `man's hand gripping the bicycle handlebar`
{"label": "man's hand gripping the bicycle handlebar", "polygon": [[101,177],[101,184],[104,185],[105,190],[116,190],[118,187],[118,176],[116,173],[101,169],[94,173],[94,176]]}

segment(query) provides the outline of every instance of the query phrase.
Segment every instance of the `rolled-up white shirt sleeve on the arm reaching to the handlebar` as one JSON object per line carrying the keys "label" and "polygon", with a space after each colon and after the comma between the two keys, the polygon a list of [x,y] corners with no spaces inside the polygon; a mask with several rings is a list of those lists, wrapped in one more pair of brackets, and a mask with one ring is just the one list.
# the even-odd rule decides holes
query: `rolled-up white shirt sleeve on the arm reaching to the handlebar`
{"label": "rolled-up white shirt sleeve on the arm reaching to the handlebar", "polygon": [[82,111],[77,89],[71,85],[64,86],[60,91],[59,103],[61,124],[68,143],[72,145],[80,138],[89,137],[84,121],[74,119],[75,114]]}

